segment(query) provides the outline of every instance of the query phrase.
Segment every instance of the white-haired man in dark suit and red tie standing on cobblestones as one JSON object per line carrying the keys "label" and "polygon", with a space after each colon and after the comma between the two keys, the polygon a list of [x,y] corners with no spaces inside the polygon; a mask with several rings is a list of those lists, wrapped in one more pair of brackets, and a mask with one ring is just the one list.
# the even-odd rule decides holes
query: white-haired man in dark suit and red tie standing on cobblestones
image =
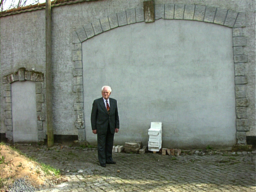
{"label": "white-haired man in dark suit and red tie standing on cobblestones", "polygon": [[111,87],[102,87],[102,97],[93,101],[91,125],[97,134],[98,158],[100,166],[116,164],[112,158],[114,134],[119,131],[119,116],[116,99],[109,98]]}

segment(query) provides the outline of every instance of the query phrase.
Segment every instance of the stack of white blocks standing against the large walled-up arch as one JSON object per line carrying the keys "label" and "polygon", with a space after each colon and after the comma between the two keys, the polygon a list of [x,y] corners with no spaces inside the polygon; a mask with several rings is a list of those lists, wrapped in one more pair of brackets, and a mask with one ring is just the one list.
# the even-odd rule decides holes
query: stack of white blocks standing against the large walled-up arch
{"label": "stack of white blocks standing against the large walled-up arch", "polygon": [[148,151],[160,151],[162,148],[162,122],[151,122],[148,135]]}

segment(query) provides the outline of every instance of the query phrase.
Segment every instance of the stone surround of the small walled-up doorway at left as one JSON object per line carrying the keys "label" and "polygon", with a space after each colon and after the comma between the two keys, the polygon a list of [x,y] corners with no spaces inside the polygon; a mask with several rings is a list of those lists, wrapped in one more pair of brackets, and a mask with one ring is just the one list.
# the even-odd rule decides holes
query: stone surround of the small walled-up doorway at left
{"label": "stone surround of the small walled-up doorway at left", "polygon": [[5,125],[6,125],[6,138],[13,141],[13,124],[12,124],[12,90],[11,84],[15,81],[34,81],[35,82],[35,97],[36,97],[36,113],[37,113],[37,130],[38,141],[43,141],[46,137],[44,131],[45,122],[45,101],[44,101],[44,74],[36,71],[29,71],[25,68],[20,68],[16,72],[10,73],[3,77],[4,83],[4,99],[5,99]]}

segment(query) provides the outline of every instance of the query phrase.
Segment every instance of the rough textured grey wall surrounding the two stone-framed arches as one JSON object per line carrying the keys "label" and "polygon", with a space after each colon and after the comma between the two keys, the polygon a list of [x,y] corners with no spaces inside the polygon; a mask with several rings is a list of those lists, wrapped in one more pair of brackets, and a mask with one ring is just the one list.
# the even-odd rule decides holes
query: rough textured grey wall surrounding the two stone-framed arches
{"label": "rough textured grey wall surrounding the two stone-framed arches", "polygon": [[[255,131],[255,2],[251,0],[156,0],[156,4],[178,3],[178,4],[197,4],[204,6],[214,6],[220,9],[231,9],[235,12],[245,13],[246,27],[242,28],[242,33],[246,38],[246,47],[242,52],[247,56],[247,62],[235,67],[241,68],[240,75],[246,73],[248,82],[246,84],[245,93],[248,98],[248,107],[246,107],[247,123],[249,131],[247,135],[256,135]],[[74,85],[81,84],[81,76],[79,70],[73,70],[81,67],[81,62],[74,59],[73,50],[81,49],[81,44],[73,44],[73,33],[81,29],[82,26],[94,22],[97,19],[105,18],[109,15],[119,13],[125,10],[143,7],[143,0],[112,0],[102,2],[79,3],[68,6],[58,6],[52,8],[52,35],[53,35],[53,120],[55,134],[77,135],[83,130],[83,126],[87,129],[90,126],[88,122],[87,106],[78,104],[78,96],[74,90]],[[158,22],[158,21],[157,21]],[[0,17],[0,34],[1,34],[1,85],[3,84],[3,76],[16,72],[20,67],[26,70],[34,70],[36,72],[45,73],[44,67],[44,10],[35,12],[26,12],[18,15]],[[135,24],[134,24],[135,25]],[[137,24],[136,24],[137,25]],[[122,27],[121,27],[122,28]],[[121,29],[120,28],[120,29]],[[110,31],[111,32],[111,31]],[[106,32],[108,33],[108,32]],[[234,31],[233,31],[234,33]],[[102,34],[104,35],[104,33]],[[101,35],[99,35],[101,36]],[[96,38],[96,37],[93,37]],[[93,38],[91,41],[93,41]],[[238,75],[238,74],[236,74]],[[99,85],[101,87],[102,84]],[[42,94],[44,94],[44,81],[41,84]],[[9,109],[8,91],[9,87],[1,86],[1,133],[7,132],[10,127],[9,121],[6,121],[6,108]],[[121,88],[115,88],[116,93],[120,93]],[[7,94],[7,95],[6,95]],[[39,94],[39,93],[38,93]],[[92,98],[97,96],[96,90]],[[84,92],[86,97],[86,94]],[[80,95],[81,96],[81,95]],[[114,94],[113,94],[114,96]],[[81,99],[81,98],[80,98]],[[119,98],[116,98],[119,99]],[[121,100],[122,101],[122,100]],[[84,101],[85,102],[85,101]],[[122,104],[119,101],[121,107]],[[6,105],[7,104],[7,105]],[[77,117],[84,108],[85,119],[81,118],[81,129],[76,126]],[[43,113],[45,111],[44,102],[42,102]],[[83,114],[81,115],[83,116]],[[121,119],[123,117],[120,114]],[[10,118],[9,118],[10,119]],[[86,120],[87,119],[87,120]],[[84,123],[82,122],[83,120]],[[42,123],[45,133],[45,121]],[[145,125],[148,126],[148,125]],[[81,131],[83,132],[83,131]],[[126,133],[123,133],[126,134]],[[121,137],[121,133],[120,136]]]}

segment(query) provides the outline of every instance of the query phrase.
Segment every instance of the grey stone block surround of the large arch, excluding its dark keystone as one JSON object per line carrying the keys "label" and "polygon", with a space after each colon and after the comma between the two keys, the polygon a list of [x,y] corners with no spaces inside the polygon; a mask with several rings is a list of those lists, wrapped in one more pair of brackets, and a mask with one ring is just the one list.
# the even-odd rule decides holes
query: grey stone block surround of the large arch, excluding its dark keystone
{"label": "grey stone block surround of the large arch, excluding its dark keystone", "polygon": [[[247,78],[244,64],[247,57],[243,49],[246,40],[243,34],[244,13],[232,10],[220,9],[210,6],[181,5],[181,4],[158,4],[155,5],[155,20],[177,19],[194,20],[207,23],[223,25],[232,28],[233,31],[233,55],[235,69],[235,94],[236,94],[236,138],[237,144],[246,144],[246,131],[249,131],[247,119]],[[84,99],[83,99],[83,72],[82,72],[82,50],[81,43],[95,35],[99,35],[116,27],[133,23],[144,22],[144,11],[142,7],[129,9],[124,12],[110,15],[108,17],[87,23],[85,26],[73,32],[73,76],[75,78],[73,92],[76,94],[74,110],[77,120],[76,128],[79,129],[79,140],[83,140],[84,133]],[[157,21],[156,21],[157,22]]]}

